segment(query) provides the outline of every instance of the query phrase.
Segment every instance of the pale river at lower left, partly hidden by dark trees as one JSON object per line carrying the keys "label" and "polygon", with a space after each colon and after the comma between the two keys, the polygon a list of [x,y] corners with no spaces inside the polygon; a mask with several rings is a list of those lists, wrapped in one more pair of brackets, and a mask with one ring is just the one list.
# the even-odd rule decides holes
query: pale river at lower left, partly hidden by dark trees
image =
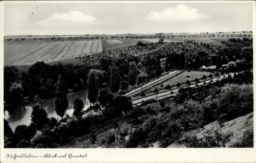
{"label": "pale river at lower left, partly hidden by dark trees", "polygon": [[[67,94],[67,98],[69,100],[69,106],[67,109],[67,114],[72,115],[73,114],[73,104],[76,98],[81,99],[84,103],[84,108],[83,110],[86,110],[90,106],[89,99],[87,98],[87,90],[80,90],[77,92],[71,92]],[[54,98],[47,99],[47,100],[42,100],[39,102],[34,102],[30,104],[26,104],[23,108],[19,108],[16,111],[13,112],[8,112],[7,110],[5,111],[4,118],[5,120],[8,121],[9,126],[11,127],[12,131],[15,131],[15,128],[18,125],[30,125],[31,123],[31,113],[33,111],[33,106],[36,104],[40,104],[43,109],[46,110],[48,114],[48,118],[56,118],[60,120],[61,118],[56,114],[55,111],[55,105],[54,105]]]}

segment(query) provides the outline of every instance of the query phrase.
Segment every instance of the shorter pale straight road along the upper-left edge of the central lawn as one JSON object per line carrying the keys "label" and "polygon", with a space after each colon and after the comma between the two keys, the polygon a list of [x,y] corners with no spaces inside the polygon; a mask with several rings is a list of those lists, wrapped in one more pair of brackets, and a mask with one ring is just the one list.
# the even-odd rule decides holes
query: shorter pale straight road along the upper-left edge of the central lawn
{"label": "shorter pale straight road along the upper-left edge of the central lawn", "polygon": [[154,81],[152,81],[150,83],[147,83],[147,84],[143,85],[142,87],[136,88],[136,89],[128,92],[127,94],[125,94],[123,96],[133,96],[134,94],[138,93],[139,91],[142,91],[143,89],[145,89],[145,88],[147,88],[149,86],[153,86],[153,85],[157,84],[157,82],[161,82],[161,81],[163,81],[165,79],[171,78],[171,77],[173,77],[173,76],[175,76],[175,75],[177,75],[177,74],[179,74],[181,72],[182,72],[181,70],[176,70],[176,71],[170,72],[168,75],[165,75],[165,76],[163,76],[163,77],[161,77],[161,78],[159,78],[157,80],[154,80]]}

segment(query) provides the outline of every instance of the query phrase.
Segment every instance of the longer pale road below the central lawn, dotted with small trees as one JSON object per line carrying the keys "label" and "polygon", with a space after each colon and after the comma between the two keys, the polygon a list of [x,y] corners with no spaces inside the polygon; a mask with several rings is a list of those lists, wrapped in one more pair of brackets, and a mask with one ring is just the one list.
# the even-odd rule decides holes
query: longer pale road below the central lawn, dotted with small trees
{"label": "longer pale road below the central lawn, dotted with small trees", "polygon": [[[231,77],[234,76],[234,73],[229,73],[229,74],[231,75]],[[219,77],[214,77],[214,78],[211,78],[211,79],[208,79],[208,80],[205,80],[205,81],[202,81],[202,82],[198,83],[198,86],[205,85],[204,82],[206,84],[208,84],[208,83],[210,83],[211,80],[212,80],[212,83],[215,83],[215,82],[217,82],[217,80],[222,80],[222,79],[227,78],[227,77],[228,77],[228,74],[225,74],[225,75],[222,75],[222,76],[219,76]],[[191,85],[188,85],[188,86],[184,86],[182,88],[187,88],[187,87],[196,87],[196,84],[191,84]],[[178,94],[179,89],[181,89],[181,88],[176,88],[176,89],[173,89],[173,90],[168,90],[168,91],[162,92],[162,93],[157,95],[157,99],[160,100],[160,99],[163,99],[163,98],[166,98],[166,97],[176,96]],[[173,94],[170,94],[171,91],[173,91]],[[156,99],[156,95],[151,95],[151,96],[148,96],[148,97],[143,97],[143,98],[140,98],[140,99],[137,99],[137,100],[133,100],[132,103],[133,103],[133,105],[139,105],[142,101],[147,101],[147,100],[150,100],[150,99]]]}

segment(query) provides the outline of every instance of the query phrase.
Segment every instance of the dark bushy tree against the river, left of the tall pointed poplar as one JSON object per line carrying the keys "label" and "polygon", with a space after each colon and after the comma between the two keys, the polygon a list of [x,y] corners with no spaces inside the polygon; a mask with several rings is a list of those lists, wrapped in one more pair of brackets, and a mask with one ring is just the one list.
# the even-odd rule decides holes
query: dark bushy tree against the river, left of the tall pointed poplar
{"label": "dark bushy tree against the river, left of the tall pointed poplar", "polygon": [[47,113],[39,105],[33,107],[31,113],[31,122],[35,124],[36,129],[41,130],[46,124],[49,123]]}

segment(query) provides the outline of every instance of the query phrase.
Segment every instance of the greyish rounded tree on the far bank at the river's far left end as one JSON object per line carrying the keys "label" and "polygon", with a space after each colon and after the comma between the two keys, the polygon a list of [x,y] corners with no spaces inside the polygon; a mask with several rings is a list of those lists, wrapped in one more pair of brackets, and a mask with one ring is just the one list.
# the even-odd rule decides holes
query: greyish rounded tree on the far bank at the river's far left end
{"label": "greyish rounded tree on the far bank at the river's far left end", "polygon": [[9,98],[14,109],[23,104],[23,88],[22,84],[14,82],[9,89]]}

